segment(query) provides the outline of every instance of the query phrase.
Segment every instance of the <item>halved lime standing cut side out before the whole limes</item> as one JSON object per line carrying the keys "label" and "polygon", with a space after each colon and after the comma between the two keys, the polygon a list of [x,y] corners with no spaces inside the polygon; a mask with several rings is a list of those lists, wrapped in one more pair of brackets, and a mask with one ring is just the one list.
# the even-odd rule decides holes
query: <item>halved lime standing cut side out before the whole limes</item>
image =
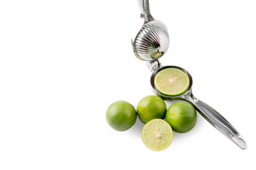
{"label": "halved lime standing cut side out before the whole limes", "polygon": [[154,151],[161,151],[171,145],[173,139],[171,125],[162,119],[150,120],[142,129],[142,141]]}

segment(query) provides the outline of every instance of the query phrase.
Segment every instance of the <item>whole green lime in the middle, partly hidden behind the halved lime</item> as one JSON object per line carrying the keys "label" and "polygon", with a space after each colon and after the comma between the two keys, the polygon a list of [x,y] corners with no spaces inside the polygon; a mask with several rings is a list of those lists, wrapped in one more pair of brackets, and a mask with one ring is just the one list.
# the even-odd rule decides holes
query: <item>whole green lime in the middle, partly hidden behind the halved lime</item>
{"label": "whole green lime in the middle, partly hidden behind the halved lime", "polygon": [[166,116],[166,103],[159,96],[146,96],[139,101],[137,113],[142,123],[152,119],[164,119]]}

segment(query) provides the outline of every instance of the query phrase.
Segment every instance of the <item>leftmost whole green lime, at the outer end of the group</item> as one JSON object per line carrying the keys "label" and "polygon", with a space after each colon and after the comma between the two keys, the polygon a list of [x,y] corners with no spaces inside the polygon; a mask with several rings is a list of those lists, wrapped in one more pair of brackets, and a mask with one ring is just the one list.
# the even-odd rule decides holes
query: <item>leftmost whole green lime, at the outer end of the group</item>
{"label": "leftmost whole green lime, at the outer end of the group", "polygon": [[127,101],[116,101],[107,108],[107,123],[117,131],[132,128],[137,119],[137,113],[132,104]]}

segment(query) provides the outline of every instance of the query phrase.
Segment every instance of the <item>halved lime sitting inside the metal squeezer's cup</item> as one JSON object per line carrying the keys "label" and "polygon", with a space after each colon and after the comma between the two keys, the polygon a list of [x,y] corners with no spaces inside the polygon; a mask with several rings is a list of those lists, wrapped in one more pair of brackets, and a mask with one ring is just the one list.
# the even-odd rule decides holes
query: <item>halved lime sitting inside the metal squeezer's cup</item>
{"label": "halved lime sitting inside the metal squeezer's cup", "polygon": [[181,69],[163,69],[156,74],[154,85],[161,94],[167,96],[180,96],[181,94],[185,94],[188,89],[188,74],[181,71]]}

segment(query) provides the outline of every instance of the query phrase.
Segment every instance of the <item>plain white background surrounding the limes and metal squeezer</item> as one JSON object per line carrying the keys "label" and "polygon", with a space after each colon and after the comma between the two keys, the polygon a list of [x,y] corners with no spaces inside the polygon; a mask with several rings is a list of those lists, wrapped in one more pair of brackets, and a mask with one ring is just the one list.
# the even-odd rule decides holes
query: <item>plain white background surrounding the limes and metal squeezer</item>
{"label": "plain white background surrounding the limes and metal squeezer", "polygon": [[[110,128],[107,107],[152,95],[134,57],[133,1],[0,1],[0,169],[255,169],[256,1],[151,0],[169,30],[163,65],[193,76],[195,96],[245,138],[239,149],[201,115],[153,152],[143,124]],[[174,102],[174,101],[173,101]],[[166,102],[170,106],[173,102]]]}

